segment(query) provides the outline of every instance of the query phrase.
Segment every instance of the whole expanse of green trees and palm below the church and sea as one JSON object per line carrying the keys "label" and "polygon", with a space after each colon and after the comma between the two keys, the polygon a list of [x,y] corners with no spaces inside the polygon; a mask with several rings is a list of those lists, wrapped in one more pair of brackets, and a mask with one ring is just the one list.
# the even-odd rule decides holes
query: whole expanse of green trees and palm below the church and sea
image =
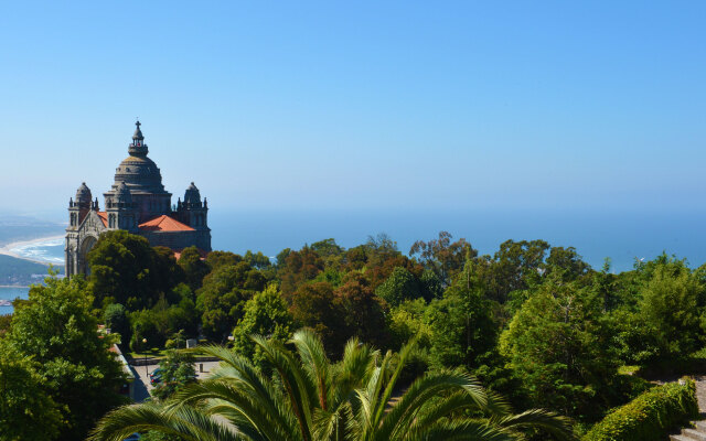
{"label": "whole expanse of green trees and palm below the church and sea", "polygon": [[[120,427],[154,440],[663,439],[695,416],[694,387],[653,380],[706,369],[706,266],[666,252],[613,273],[609,259],[595,269],[571,247],[507,240],[479,255],[441,232],[406,254],[378,235],[349,249],[324,239],[271,260],[196,248],[176,260],[117,230],[89,261],[85,280],[50,278],[0,320],[0,431],[25,431],[8,439],[121,440],[132,429]],[[113,334],[94,335],[98,323]],[[237,385],[259,386],[246,406],[223,378],[200,385],[186,376],[151,404],[119,407],[119,369],[95,355],[116,338],[125,353],[199,338]],[[11,375],[29,386],[10,394]],[[260,389],[277,405],[253,398]],[[240,404],[224,410],[226,397]],[[42,411],[28,413],[19,400]],[[243,410],[255,404],[269,415],[260,422]],[[268,406],[287,417],[270,418]],[[216,410],[244,438],[208,426],[203,416]],[[634,423],[630,415],[650,411],[659,418]],[[11,417],[28,424],[9,427]],[[272,422],[289,419],[299,423]],[[28,433],[36,420],[45,424]],[[600,434],[607,430],[623,434]]]}

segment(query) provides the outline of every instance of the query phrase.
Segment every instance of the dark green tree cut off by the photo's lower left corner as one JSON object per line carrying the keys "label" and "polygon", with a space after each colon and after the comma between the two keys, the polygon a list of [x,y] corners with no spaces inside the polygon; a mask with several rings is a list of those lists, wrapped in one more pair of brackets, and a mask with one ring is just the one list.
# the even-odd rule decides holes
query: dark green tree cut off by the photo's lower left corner
{"label": "dark green tree cut off by the photo's lower left corner", "polygon": [[0,439],[45,441],[58,434],[62,415],[38,367],[0,340]]}

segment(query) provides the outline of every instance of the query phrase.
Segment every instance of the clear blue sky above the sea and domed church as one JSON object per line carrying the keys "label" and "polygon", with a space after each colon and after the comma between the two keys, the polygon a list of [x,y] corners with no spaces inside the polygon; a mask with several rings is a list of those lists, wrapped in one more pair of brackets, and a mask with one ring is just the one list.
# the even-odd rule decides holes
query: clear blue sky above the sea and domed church
{"label": "clear blue sky above the sea and domed church", "polygon": [[[211,207],[689,209],[706,2],[3,2],[0,203],[109,189],[137,116]],[[103,197],[100,197],[103,204]],[[371,232],[373,233],[373,232]]]}

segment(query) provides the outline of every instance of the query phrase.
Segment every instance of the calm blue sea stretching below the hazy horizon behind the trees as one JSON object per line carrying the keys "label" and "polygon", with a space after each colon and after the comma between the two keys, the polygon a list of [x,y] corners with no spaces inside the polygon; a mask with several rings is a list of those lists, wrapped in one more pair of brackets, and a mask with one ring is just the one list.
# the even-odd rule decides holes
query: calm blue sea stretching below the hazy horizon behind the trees
{"label": "calm blue sea stretching below the hazy horizon behind the trees", "polygon": [[[212,206],[216,206],[212,204]],[[345,248],[386,234],[407,254],[416,240],[449,232],[464,238],[481,255],[493,255],[507,239],[543,239],[552,246],[575,247],[591,267],[611,261],[611,271],[633,268],[662,252],[686,259],[692,268],[706,262],[706,208],[680,209],[257,209],[208,213],[213,249],[237,254],[263,251],[275,257],[285,248],[334,238]],[[14,252],[63,263],[63,240],[23,245]],[[26,297],[28,288],[0,288],[0,299]],[[11,306],[0,306],[0,314]]]}

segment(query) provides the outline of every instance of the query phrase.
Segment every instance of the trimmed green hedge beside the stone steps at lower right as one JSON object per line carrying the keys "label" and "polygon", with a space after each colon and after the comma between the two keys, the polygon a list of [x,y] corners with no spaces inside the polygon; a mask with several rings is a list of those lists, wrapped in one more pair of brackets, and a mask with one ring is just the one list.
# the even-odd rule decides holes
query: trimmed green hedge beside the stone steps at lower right
{"label": "trimmed green hedge beside the stone steps at lower right", "polygon": [[698,416],[693,380],[654,387],[614,409],[593,426],[584,441],[660,441],[670,429]]}

